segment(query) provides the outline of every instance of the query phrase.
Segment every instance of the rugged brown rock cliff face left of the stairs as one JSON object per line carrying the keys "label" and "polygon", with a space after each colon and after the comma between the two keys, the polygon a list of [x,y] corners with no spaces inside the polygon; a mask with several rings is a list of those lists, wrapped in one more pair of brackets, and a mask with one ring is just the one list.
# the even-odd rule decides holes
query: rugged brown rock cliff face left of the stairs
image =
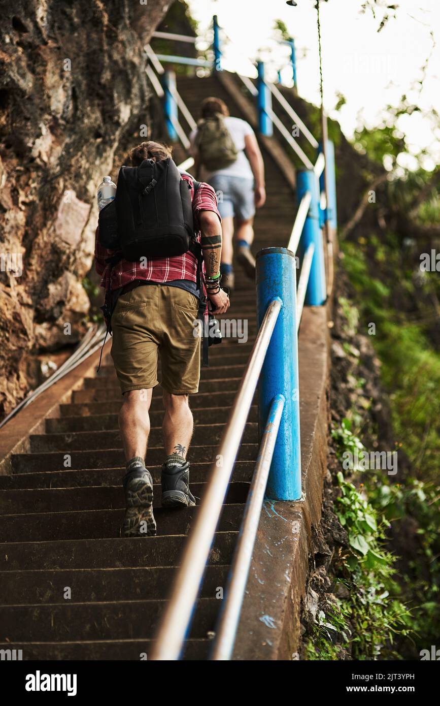
{"label": "rugged brown rock cliff face left of the stairs", "polygon": [[170,4],[0,0],[0,418],[85,329],[97,186],[159,119],[142,47]]}

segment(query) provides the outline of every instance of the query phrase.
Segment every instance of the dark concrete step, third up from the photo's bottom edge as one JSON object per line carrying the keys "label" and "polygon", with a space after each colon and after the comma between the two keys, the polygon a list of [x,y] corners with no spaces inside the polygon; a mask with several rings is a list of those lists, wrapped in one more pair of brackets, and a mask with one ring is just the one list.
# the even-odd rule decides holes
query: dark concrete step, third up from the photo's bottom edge
{"label": "dark concrete step, third up from the photo's bottom edge", "polygon": [[[228,566],[208,566],[200,597],[215,597],[218,587],[226,585],[228,570]],[[0,605],[64,604],[66,586],[72,590],[71,604],[166,597],[175,575],[173,566],[2,571]]]}

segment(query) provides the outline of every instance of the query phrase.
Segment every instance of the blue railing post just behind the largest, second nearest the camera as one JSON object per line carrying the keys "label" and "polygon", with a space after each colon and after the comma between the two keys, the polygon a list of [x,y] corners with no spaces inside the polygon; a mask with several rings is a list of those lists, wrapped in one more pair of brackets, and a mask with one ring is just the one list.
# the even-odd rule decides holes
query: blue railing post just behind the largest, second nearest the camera
{"label": "blue railing post just behind the largest, second nearest the camera", "polygon": [[312,169],[300,169],[296,173],[296,194],[298,203],[302,196],[310,191],[312,201],[309,213],[302,229],[300,252],[303,254],[310,243],[314,244],[312,268],[305,292],[305,304],[308,306],[321,306],[326,300],[326,278],[324,268],[324,249],[322,244],[322,230],[319,226],[319,188],[318,180]]}

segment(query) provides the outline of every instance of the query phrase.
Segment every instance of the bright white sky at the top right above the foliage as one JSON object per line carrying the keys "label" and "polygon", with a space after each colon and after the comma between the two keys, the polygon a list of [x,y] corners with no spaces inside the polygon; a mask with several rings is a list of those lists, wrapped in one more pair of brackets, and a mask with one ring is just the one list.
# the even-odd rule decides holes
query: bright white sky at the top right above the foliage
{"label": "bright white sky at the top right above the foliage", "polygon": [[[314,0],[297,0],[297,7],[285,0],[187,0],[200,22],[200,33],[209,36],[212,15],[216,14],[231,42],[224,47],[224,68],[252,74],[246,57],[267,61],[267,74],[274,80],[276,70],[288,62],[288,47],[277,44],[272,30],[274,20],[286,23],[297,49],[298,92],[319,104],[319,63],[317,52],[317,13]],[[381,109],[396,104],[405,92],[422,109],[434,107],[440,113],[440,0],[389,0],[397,4],[397,18],[391,18],[377,32],[377,18],[371,12],[360,14],[362,0],[329,0],[321,3],[324,104],[337,119],[346,136],[353,135],[362,122],[377,125]],[[430,32],[436,47],[432,49]],[[421,77],[420,68],[431,54],[422,92],[410,91]],[[283,69],[288,84],[291,71]],[[334,112],[336,94],[347,100]],[[420,114],[403,116],[398,126],[405,131],[414,152],[429,148],[433,160],[424,162],[432,169],[440,161],[440,131]],[[408,162],[408,166],[411,163]]]}

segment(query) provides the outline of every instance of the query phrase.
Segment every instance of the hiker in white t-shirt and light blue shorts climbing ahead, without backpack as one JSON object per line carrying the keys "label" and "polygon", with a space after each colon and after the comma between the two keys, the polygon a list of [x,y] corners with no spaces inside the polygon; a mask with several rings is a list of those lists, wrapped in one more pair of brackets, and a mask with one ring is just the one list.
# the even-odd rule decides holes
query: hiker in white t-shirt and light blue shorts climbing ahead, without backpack
{"label": "hiker in white t-shirt and light blue shorts climbing ahead, without backpack", "polygon": [[250,124],[229,115],[226,103],[220,98],[209,97],[202,101],[202,119],[221,114],[224,124],[236,146],[236,160],[228,167],[208,171],[202,164],[197,150],[197,130],[190,134],[191,154],[195,160],[195,175],[210,184],[217,194],[221,215],[221,283],[229,289],[234,287],[233,237],[235,219],[235,239],[238,245],[237,261],[243,265],[245,273],[255,277],[255,258],[250,246],[254,239],[253,222],[255,208],[266,201],[264,188],[264,162],[257,138]]}

